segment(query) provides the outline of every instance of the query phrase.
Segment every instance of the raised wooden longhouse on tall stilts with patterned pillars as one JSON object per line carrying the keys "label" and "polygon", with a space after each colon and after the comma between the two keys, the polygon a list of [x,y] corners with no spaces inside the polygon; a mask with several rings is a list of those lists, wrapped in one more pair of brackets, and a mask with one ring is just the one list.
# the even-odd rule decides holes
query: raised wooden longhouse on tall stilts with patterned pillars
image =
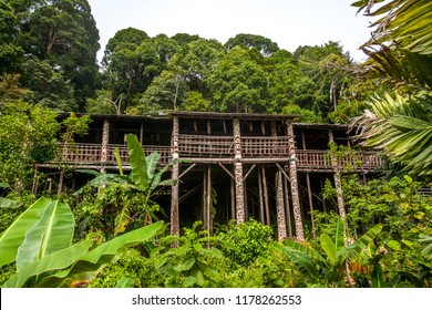
{"label": "raised wooden longhouse on tall stilts with patterned pillars", "polygon": [[[338,186],[347,166],[366,177],[382,165],[374,152],[331,156],[329,143],[351,146],[347,126],[295,123],[291,115],[173,112],[92,120],[74,152],[63,153],[62,162],[72,168],[116,170],[115,147],[127,168],[127,133],[138,137],[146,154],[160,152],[163,164],[185,159],[172,167],[179,182],[160,197],[173,235],[195,220],[212,231],[217,223],[253,217],[277,227],[279,239],[304,239],[302,223],[313,226],[311,211],[328,209],[320,195],[326,178]],[[338,206],[344,214],[341,193]]]}

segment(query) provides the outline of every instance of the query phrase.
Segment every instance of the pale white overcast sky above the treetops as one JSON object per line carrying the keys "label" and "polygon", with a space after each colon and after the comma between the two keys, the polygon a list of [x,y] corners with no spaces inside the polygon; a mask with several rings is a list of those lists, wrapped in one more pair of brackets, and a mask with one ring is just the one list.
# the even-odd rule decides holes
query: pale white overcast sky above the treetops
{"label": "pale white overcast sky above the treetops", "polygon": [[128,27],[150,37],[198,34],[225,43],[239,33],[259,34],[294,52],[300,45],[338,41],[357,61],[370,38],[371,20],[356,14],[353,0],[88,0],[101,37],[107,41]]}

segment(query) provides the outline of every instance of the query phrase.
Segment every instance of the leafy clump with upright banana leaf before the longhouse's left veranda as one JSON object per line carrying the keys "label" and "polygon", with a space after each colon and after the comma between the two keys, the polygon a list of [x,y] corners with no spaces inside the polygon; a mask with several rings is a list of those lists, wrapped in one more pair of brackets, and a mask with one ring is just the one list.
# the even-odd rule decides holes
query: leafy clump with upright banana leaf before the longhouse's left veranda
{"label": "leafy clump with upright banana leaf before the longhouse's left veranda", "polygon": [[120,175],[97,174],[85,187],[74,195],[83,195],[79,204],[79,236],[85,235],[89,228],[102,229],[111,238],[132,227],[146,225],[162,211],[152,200],[156,187],[172,185],[174,180],[162,179],[171,165],[160,168],[161,154],[145,156],[141,143],[133,134],[126,136],[131,162],[131,174],[123,175],[122,163],[117,156]]}

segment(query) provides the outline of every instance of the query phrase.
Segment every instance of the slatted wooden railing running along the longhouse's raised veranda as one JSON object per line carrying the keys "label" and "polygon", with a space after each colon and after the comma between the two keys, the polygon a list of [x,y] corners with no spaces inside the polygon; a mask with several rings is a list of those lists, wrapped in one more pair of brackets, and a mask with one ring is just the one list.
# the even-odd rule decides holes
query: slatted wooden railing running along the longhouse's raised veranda
{"label": "slatted wooden railing running along the longhouse's raised veranda", "polygon": [[[115,147],[124,165],[128,165],[126,145],[107,146],[106,162],[102,162],[102,145],[78,143],[68,149],[63,148],[61,162],[75,165],[111,165],[115,166]],[[161,164],[171,161],[171,147],[158,145],[144,145],[145,154],[153,152],[161,154]],[[178,138],[181,158],[234,158],[234,140],[223,136],[181,135]],[[241,156],[245,159],[264,158],[288,161],[287,137],[241,137]],[[327,151],[296,149],[297,167],[299,169],[332,170],[330,155]],[[59,162],[59,161],[58,161]],[[383,164],[382,158],[374,152],[356,152],[338,158],[338,167],[354,170],[370,170]]]}

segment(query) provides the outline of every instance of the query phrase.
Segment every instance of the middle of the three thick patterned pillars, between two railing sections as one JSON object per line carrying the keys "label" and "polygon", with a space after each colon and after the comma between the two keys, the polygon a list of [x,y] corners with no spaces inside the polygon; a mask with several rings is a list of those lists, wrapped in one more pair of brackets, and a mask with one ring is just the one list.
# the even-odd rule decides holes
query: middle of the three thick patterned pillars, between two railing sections
{"label": "middle of the three thick patterned pillars, between two railing sections", "polygon": [[245,221],[245,192],[243,186],[243,164],[241,164],[241,135],[240,135],[240,120],[234,117],[234,176],[236,183],[236,219],[237,223]]}

